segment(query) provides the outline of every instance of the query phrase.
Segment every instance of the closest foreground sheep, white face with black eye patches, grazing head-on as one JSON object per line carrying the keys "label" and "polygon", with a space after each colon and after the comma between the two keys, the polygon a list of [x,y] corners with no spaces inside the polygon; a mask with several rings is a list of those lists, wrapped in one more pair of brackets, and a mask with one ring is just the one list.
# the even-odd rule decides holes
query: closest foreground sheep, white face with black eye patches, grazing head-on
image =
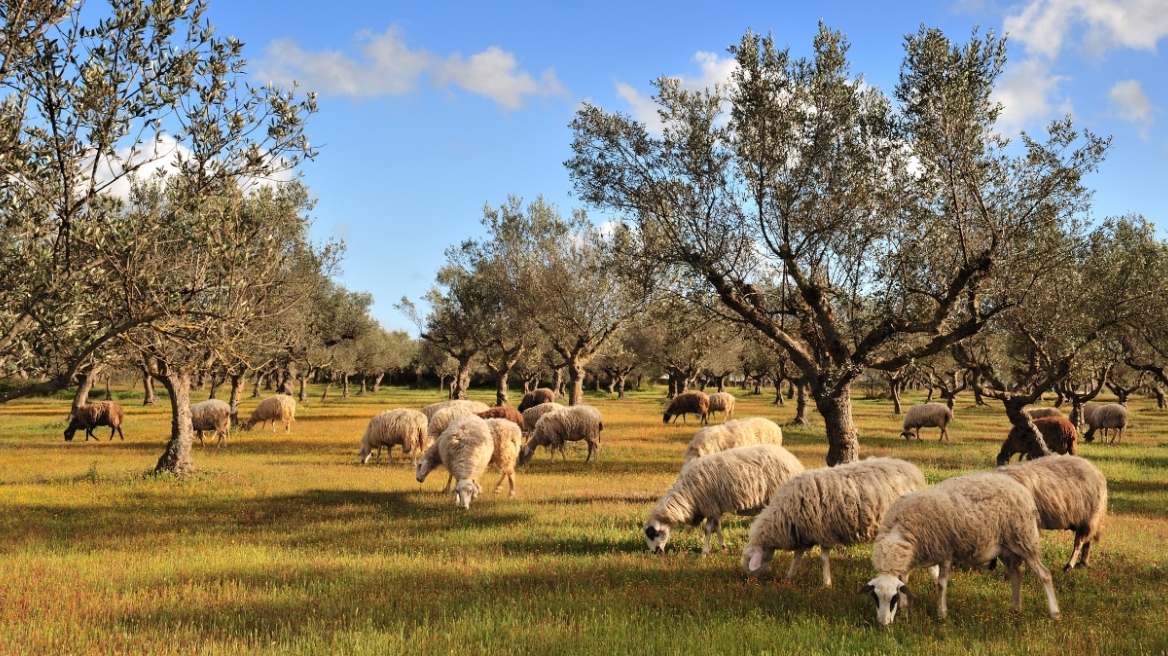
{"label": "closest foreground sheep, white face with black eye patches, grazing head-on", "polygon": [[[1045,460],[1045,459],[1043,459]],[[1052,619],[1058,600],[1050,571],[1042,564],[1038,508],[1021,483],[997,472],[957,476],[932,488],[901,497],[889,508],[872,550],[880,574],[861,594],[876,600],[876,621],[888,626],[897,602],[912,596],[905,585],[909,571],[927,567],[940,588],[937,616],[945,617],[945,593],[953,563],[985,564],[1001,557],[1009,571],[1011,608],[1022,608],[1021,564],[1038,577],[1047,591]]]}

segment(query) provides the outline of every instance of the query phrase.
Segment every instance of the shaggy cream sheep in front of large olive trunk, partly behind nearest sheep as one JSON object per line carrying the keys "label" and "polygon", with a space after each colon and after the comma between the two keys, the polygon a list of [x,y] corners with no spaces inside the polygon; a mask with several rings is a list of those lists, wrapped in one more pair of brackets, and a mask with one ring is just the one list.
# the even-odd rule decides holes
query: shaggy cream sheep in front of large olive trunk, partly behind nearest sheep
{"label": "shaggy cream sheep in front of large olive trunk, partly behind nearest sheep", "polygon": [[793,476],[751,524],[750,542],[742,551],[743,570],[758,577],[781,549],[794,551],[786,574],[794,579],[804,552],[818,544],[823,585],[830,587],[832,547],[871,542],[888,508],[924,487],[920,469],[892,458],[869,458]]}

